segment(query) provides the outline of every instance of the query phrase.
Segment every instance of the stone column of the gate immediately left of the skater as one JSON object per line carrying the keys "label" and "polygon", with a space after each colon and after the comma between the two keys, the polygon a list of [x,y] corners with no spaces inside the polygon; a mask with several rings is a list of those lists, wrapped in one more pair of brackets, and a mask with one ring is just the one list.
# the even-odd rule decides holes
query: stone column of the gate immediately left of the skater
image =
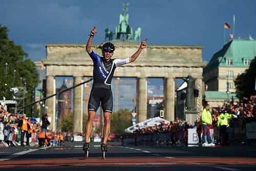
{"label": "stone column of the gate immediately left of the skater", "polygon": [[[74,86],[82,82],[82,76],[74,76]],[[74,89],[73,132],[82,132],[82,85]]]}

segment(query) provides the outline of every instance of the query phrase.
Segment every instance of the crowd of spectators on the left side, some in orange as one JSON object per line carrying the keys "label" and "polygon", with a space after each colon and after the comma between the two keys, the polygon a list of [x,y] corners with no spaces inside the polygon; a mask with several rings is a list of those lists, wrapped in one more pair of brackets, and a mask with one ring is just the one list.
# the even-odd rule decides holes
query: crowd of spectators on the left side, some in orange
{"label": "crowd of spectators on the left side, some in orange", "polygon": [[[61,146],[67,140],[67,132],[52,132],[34,118],[7,112],[4,105],[0,108],[0,142],[2,146],[38,146],[38,136],[45,133],[42,145]],[[46,115],[42,117],[44,119]],[[40,145],[40,146],[42,146]]]}

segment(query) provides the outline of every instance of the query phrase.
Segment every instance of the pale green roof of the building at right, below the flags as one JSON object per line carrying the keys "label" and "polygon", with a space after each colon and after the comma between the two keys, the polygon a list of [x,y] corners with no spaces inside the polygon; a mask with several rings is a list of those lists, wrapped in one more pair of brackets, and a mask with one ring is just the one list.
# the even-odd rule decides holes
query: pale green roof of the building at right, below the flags
{"label": "pale green roof of the building at right, below the flags", "polygon": [[[214,54],[204,68],[204,73],[217,67],[248,68],[248,65],[244,65],[244,60],[252,60],[255,56],[256,40],[232,39],[219,52]],[[227,59],[232,59],[233,65],[227,65]]]}

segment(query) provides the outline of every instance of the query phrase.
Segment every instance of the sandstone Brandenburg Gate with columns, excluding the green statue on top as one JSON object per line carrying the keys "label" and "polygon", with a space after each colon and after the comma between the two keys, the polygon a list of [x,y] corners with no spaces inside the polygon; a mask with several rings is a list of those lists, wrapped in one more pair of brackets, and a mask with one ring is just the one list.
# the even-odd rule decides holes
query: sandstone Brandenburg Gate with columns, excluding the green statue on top
{"label": "sandstone Brandenburg Gate with columns, excluding the green statue on top", "polygon": [[[148,39],[150,44],[150,38]],[[114,58],[132,56],[139,48],[140,42],[121,40],[112,41],[116,47]],[[92,50],[101,54],[100,45],[93,45]],[[74,85],[81,83],[82,78],[92,77],[93,61],[85,51],[86,45],[47,44],[47,56],[42,62],[46,66],[47,96],[55,93],[56,76],[74,77]],[[201,46],[153,46],[147,45],[133,63],[117,67],[114,77],[135,77],[137,79],[137,121],[146,120],[147,78],[164,79],[164,119],[175,119],[175,78],[188,75],[197,78],[195,88],[199,90],[199,102],[202,106],[203,67]],[[74,89],[73,131],[83,132],[83,89]],[[47,113],[52,118],[50,129],[55,131],[55,96],[47,99]],[[87,111],[86,111],[87,112]],[[115,111],[114,111],[115,112]]]}

